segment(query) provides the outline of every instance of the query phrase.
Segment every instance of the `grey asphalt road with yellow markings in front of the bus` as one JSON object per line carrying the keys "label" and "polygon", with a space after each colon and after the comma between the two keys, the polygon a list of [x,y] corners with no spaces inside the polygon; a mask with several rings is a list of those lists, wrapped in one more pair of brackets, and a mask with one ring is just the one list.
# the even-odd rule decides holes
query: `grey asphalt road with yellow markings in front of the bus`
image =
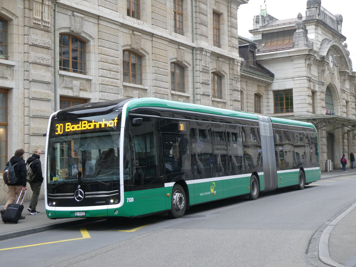
{"label": "grey asphalt road with yellow markings in front of the bus", "polygon": [[[191,207],[184,218],[96,223],[0,242],[2,266],[312,266],[309,241],[355,200],[356,176]],[[21,247],[25,246],[25,247]],[[5,256],[6,255],[6,256]],[[319,266],[323,266],[320,264]]]}

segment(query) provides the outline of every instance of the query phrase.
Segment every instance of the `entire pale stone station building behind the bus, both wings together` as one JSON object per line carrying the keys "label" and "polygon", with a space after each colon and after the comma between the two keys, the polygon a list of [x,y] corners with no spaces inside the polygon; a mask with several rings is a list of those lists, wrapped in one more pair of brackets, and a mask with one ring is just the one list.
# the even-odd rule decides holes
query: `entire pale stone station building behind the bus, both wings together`
{"label": "entire pale stone station building behind the bus, both wings together", "polygon": [[[322,169],[337,163],[354,149],[356,125],[342,16],[320,0],[288,21],[261,12],[249,42],[237,35],[237,8],[247,2],[0,0],[0,166],[18,148],[26,158],[45,151],[56,110],[147,96],[311,121]],[[288,42],[272,47],[279,34]],[[285,90],[293,98],[280,112]],[[6,191],[1,183],[0,204]]]}

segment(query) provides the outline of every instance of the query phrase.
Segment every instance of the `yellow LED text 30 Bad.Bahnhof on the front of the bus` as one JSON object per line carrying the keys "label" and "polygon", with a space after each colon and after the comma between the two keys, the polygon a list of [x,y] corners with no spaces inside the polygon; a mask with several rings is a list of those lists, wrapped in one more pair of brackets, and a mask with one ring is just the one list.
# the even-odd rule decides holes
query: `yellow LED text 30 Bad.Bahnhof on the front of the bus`
{"label": "yellow LED text 30 Bad.Bahnhof on the front of the bus", "polygon": [[107,127],[116,127],[117,126],[117,117],[114,120],[105,120],[103,121],[79,121],[78,124],[72,124],[71,122],[59,123],[56,124],[54,129],[54,134],[61,135],[63,132],[73,132],[73,131],[85,131],[91,129],[101,129]]}

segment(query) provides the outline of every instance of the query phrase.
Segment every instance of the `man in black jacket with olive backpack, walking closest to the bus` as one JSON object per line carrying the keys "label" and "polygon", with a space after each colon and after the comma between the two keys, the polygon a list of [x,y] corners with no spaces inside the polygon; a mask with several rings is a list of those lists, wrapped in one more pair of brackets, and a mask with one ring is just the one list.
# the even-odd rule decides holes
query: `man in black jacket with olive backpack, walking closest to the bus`
{"label": "man in black jacket with olive backpack, walking closest to the bus", "polygon": [[40,214],[39,211],[36,210],[38,196],[40,195],[41,185],[43,182],[42,176],[42,165],[40,161],[41,150],[35,149],[35,152],[29,157],[26,161],[27,166],[31,168],[32,173],[30,174],[27,171],[27,181],[30,183],[30,187],[32,190],[32,198],[30,200],[30,206],[27,208],[30,211],[31,215]]}

